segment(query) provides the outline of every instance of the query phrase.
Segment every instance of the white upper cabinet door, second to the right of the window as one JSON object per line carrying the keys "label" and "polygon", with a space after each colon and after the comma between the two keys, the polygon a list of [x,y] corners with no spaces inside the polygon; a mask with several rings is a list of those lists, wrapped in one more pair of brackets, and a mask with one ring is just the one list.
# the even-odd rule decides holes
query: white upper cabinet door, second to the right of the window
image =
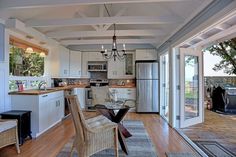
{"label": "white upper cabinet door, second to the right of the window", "polygon": [[81,65],[81,52],[70,51],[70,77],[81,77]]}

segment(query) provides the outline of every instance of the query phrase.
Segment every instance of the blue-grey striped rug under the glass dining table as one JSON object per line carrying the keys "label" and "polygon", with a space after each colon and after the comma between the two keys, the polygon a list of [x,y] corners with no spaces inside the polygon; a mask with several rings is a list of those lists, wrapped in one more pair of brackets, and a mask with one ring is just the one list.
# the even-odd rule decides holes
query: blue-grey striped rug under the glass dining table
{"label": "blue-grey striped rug under the glass dining table", "polygon": [[[126,139],[126,144],[129,150],[129,154],[126,155],[121,148],[119,148],[119,157],[157,157],[155,148],[148,136],[147,131],[144,128],[144,124],[141,121],[127,120],[123,122],[123,125],[133,135]],[[70,154],[71,145],[73,139],[64,146],[57,157],[68,157]],[[74,151],[73,157],[77,157],[77,152]],[[114,157],[114,149],[103,150],[91,157]]]}

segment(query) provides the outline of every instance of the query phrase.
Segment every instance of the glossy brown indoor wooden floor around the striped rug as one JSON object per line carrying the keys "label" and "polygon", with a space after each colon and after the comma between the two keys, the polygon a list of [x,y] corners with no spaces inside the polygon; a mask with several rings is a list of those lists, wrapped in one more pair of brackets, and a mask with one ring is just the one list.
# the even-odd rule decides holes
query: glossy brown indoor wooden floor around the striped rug
{"label": "glossy brown indoor wooden floor around the striped rug", "polygon": [[[86,117],[94,116],[91,112],[85,114]],[[158,157],[165,157],[165,152],[193,152],[179,134],[156,114],[129,113],[125,119],[143,121]],[[68,118],[39,138],[26,141],[20,147],[20,155],[16,154],[14,146],[8,146],[0,149],[0,157],[54,157],[74,134],[72,121]]]}

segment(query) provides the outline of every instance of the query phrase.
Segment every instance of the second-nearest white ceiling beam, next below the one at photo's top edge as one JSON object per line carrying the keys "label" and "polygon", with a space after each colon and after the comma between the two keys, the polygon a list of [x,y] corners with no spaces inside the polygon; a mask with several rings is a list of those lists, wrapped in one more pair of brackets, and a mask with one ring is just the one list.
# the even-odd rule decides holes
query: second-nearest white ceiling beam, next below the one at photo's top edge
{"label": "second-nearest white ceiling beam, next below the one at photo's top edge", "polygon": [[100,24],[169,24],[182,22],[176,16],[120,16],[120,17],[88,17],[72,19],[45,19],[28,20],[28,27],[57,27],[57,26],[79,26]]}

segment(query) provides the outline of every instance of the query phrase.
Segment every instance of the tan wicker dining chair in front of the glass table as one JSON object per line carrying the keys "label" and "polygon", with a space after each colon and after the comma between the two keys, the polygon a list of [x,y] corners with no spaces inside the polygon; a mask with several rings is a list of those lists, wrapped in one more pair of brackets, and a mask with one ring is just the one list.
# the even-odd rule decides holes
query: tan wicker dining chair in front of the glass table
{"label": "tan wicker dining chair in front of the glass table", "polygon": [[114,147],[118,157],[117,124],[100,115],[85,120],[80,104],[75,95],[66,97],[75,126],[75,139],[71,148],[71,156],[76,148],[79,157],[89,157],[99,151]]}

